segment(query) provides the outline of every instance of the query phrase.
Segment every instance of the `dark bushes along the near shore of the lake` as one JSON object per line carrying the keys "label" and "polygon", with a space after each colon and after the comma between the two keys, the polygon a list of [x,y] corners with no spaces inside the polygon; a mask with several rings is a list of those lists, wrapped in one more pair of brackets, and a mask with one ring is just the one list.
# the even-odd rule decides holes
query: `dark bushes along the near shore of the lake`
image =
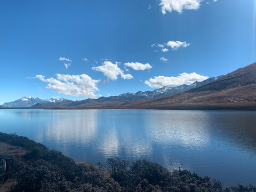
{"label": "dark bushes along the near shore of the lake", "polygon": [[0,141],[28,151],[9,162],[7,177],[17,180],[11,191],[256,191],[256,187],[242,185],[223,189],[218,180],[187,170],[169,171],[146,160],[130,163],[109,158],[106,166],[76,163],[16,134],[0,133]]}

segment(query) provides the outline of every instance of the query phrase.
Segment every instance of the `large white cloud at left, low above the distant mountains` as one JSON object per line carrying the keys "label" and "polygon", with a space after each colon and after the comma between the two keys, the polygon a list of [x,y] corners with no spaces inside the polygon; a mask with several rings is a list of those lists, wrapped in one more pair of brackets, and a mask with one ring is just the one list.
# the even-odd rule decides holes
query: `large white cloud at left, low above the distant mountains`
{"label": "large white cloud at left, low above the distant mountains", "polygon": [[46,89],[57,91],[60,94],[82,96],[86,98],[98,98],[100,94],[95,95],[95,91],[99,91],[97,83],[100,80],[92,79],[86,74],[82,75],[62,75],[56,74],[56,78],[45,78],[43,75],[36,75],[42,82],[49,83]]}

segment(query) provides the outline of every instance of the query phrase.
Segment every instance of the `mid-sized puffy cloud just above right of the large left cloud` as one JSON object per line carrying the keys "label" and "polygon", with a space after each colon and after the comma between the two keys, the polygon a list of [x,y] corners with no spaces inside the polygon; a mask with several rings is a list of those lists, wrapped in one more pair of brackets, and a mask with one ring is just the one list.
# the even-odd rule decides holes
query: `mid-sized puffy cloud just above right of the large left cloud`
{"label": "mid-sized puffy cloud just above right of the large left cloud", "polygon": [[101,66],[92,67],[92,69],[102,72],[107,77],[105,83],[108,83],[110,79],[116,80],[118,75],[121,75],[123,79],[133,78],[131,74],[124,74],[124,71],[118,67],[118,62],[114,64],[110,61],[104,61]]}

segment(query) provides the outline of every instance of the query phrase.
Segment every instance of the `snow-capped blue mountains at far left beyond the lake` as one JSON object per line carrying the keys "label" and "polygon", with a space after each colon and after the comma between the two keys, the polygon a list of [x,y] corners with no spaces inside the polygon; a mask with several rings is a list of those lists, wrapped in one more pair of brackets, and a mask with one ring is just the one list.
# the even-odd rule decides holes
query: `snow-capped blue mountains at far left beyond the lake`
{"label": "snow-capped blue mountains at far left beyond the lake", "polygon": [[23,97],[21,99],[12,101],[12,102],[5,102],[2,106],[3,107],[31,107],[36,105],[37,103],[49,103],[49,102],[61,102],[67,99],[53,97],[50,99],[39,99],[38,97]]}

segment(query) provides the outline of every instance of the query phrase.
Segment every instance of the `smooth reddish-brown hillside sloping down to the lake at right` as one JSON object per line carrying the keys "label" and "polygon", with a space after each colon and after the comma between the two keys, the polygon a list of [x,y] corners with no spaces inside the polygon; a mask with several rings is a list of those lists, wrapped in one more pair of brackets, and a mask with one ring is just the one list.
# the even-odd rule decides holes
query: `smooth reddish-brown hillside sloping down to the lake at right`
{"label": "smooth reddish-brown hillside sloping down to the lake at right", "polygon": [[124,105],[141,109],[256,110],[256,62],[186,92]]}

